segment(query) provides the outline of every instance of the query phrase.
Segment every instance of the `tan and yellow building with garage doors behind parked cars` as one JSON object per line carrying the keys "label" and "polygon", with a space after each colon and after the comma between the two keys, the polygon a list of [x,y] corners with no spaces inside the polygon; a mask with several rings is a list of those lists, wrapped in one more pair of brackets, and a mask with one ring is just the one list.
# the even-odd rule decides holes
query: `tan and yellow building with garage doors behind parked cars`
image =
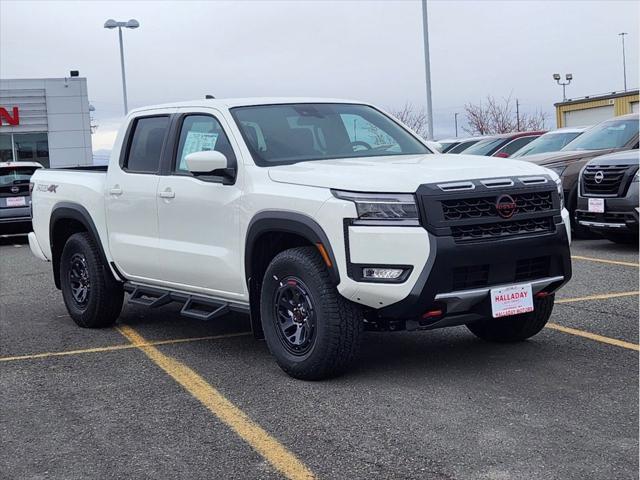
{"label": "tan and yellow building with garage doors behind parked cars", "polygon": [[638,90],[569,99],[556,103],[556,124],[560,127],[595,125],[627,113],[638,112]]}

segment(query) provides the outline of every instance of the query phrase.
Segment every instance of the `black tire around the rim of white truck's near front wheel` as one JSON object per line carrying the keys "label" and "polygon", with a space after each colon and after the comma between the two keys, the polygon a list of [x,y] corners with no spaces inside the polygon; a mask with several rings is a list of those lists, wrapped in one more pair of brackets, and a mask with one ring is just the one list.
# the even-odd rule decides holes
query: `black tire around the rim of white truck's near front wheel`
{"label": "black tire around the rim of white truck's near front wheel", "polygon": [[[291,353],[276,311],[282,281],[296,278],[305,286],[315,315],[315,337],[307,352]],[[363,331],[360,307],[342,297],[331,281],[315,247],[298,247],[277,254],[264,275],[260,315],[265,340],[278,365],[302,380],[322,380],[345,372],[358,354]]]}

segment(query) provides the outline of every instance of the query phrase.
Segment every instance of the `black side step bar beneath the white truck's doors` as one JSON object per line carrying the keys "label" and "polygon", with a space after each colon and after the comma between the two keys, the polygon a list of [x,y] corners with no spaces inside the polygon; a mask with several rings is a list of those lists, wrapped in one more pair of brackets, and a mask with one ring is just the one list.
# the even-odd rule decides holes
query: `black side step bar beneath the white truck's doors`
{"label": "black side step bar beneath the white truck's doors", "polygon": [[124,284],[124,290],[129,293],[129,303],[144,307],[157,308],[169,303],[181,303],[180,314],[195,320],[213,320],[234,311],[249,313],[249,306],[224,302],[200,295],[174,292],[157,287],[137,285],[131,282]]}

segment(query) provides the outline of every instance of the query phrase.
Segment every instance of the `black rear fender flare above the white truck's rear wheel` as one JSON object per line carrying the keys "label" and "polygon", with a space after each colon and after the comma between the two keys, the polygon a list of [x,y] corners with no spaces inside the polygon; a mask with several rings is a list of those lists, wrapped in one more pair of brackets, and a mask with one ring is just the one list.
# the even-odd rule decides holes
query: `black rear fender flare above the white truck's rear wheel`
{"label": "black rear fender flare above the white truck's rear wheel", "polygon": [[49,244],[51,246],[51,264],[53,280],[60,289],[60,258],[67,239],[78,232],[87,232],[98,246],[100,260],[108,268],[109,262],[100,241],[98,229],[85,207],[77,203],[60,202],[51,210],[49,221]]}

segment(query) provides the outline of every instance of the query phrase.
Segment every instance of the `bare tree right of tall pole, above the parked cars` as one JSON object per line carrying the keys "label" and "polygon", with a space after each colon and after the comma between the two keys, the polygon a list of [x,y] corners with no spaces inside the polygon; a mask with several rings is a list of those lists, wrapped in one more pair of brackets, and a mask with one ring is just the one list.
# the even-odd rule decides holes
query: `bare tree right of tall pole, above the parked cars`
{"label": "bare tree right of tall pole, above the parked cars", "polygon": [[511,95],[502,101],[488,95],[484,104],[467,103],[464,110],[467,126],[463,130],[472,135],[542,130],[546,120],[546,114],[541,111],[518,115]]}

